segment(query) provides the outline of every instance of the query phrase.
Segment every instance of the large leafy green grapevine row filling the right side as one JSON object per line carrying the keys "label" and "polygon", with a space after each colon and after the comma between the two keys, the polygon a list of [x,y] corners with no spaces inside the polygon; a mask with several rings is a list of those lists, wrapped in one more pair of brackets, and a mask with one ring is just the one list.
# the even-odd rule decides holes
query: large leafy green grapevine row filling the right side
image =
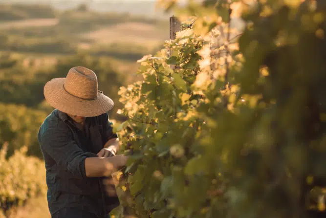
{"label": "large leafy green grapevine row filling the right side", "polygon": [[[323,189],[310,189],[326,181],[325,3],[162,2],[196,20],[139,61],[143,81],[120,89],[129,119],[117,131],[130,160],[114,217],[324,211]],[[235,4],[247,23],[239,50],[230,42]]]}

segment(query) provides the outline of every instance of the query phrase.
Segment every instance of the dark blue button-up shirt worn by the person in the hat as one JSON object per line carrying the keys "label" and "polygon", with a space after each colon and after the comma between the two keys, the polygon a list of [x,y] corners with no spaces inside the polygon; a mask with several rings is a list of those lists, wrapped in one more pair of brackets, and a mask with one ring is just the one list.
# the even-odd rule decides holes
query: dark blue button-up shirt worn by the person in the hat
{"label": "dark blue button-up shirt worn by the person in the hat", "polygon": [[105,217],[119,205],[118,197],[108,196],[103,179],[89,178],[85,159],[97,157],[113,133],[107,113],[85,119],[84,131],[57,109],[46,117],[38,132],[48,187],[51,216],[62,208],[75,207]]}

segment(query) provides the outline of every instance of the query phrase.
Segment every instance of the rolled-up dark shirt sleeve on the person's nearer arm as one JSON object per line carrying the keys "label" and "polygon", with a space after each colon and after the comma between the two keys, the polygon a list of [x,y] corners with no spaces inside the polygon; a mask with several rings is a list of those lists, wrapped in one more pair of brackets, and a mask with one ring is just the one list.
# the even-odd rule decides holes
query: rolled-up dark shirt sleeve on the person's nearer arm
{"label": "rolled-up dark shirt sleeve on the person's nearer arm", "polygon": [[96,154],[83,152],[73,140],[72,133],[65,129],[49,128],[42,131],[39,142],[44,152],[76,177],[86,178],[85,159],[97,157]]}

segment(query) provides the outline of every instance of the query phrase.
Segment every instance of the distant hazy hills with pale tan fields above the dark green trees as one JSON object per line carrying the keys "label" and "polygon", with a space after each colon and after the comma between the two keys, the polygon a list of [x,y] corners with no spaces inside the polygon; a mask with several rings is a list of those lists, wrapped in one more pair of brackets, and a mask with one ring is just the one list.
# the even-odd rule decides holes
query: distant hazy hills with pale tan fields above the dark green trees
{"label": "distant hazy hills with pale tan fields above the dark green trees", "polygon": [[[49,10],[55,17],[35,17],[34,12],[40,8]],[[3,10],[8,13],[20,10],[27,14],[25,19],[0,22],[0,50],[22,52],[27,56],[35,53],[68,55],[82,49],[94,56],[135,62],[169,39],[168,20],[77,9],[59,12],[36,5],[6,4]],[[127,70],[126,65],[121,68]]]}

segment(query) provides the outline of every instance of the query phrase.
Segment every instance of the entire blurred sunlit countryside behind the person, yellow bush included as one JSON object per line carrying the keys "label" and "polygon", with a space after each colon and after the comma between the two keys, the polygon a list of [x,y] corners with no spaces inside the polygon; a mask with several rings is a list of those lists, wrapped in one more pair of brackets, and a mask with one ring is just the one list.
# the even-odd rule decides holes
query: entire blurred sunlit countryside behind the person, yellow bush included
{"label": "entire blurred sunlit countryside behind the person, yellow bush included", "polygon": [[0,218],[49,217],[37,141],[53,110],[44,101],[44,84],[86,66],[115,102],[110,120],[122,122],[119,88],[138,81],[136,61],[169,39],[169,20],[146,14],[152,3],[140,2],[142,14],[68,3],[0,1]]}

